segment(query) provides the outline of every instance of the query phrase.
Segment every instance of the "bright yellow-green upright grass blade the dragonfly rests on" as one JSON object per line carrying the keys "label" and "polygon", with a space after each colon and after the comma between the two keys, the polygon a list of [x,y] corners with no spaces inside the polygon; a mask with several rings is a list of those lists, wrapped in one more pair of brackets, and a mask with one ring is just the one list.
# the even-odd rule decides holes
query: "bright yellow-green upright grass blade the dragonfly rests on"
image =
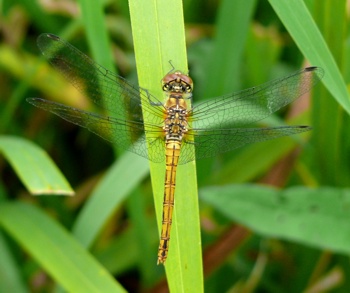
{"label": "bright yellow-green upright grass blade the dragonfly rests on", "polygon": [[[132,0],[129,3],[139,84],[162,100],[160,80],[172,69],[169,61],[176,69],[187,72],[182,3],[179,0]],[[151,178],[160,224],[164,164],[151,163]],[[168,284],[172,292],[202,292],[202,253],[194,163],[178,168],[176,186],[172,237],[165,264]],[[156,257],[154,261],[156,263]]]}

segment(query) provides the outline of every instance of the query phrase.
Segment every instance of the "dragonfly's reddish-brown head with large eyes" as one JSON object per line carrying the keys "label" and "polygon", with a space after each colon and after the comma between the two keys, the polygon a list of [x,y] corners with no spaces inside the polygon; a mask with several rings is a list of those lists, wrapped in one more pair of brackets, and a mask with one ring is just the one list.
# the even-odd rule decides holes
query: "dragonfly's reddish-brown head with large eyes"
{"label": "dragonfly's reddish-brown head with large eyes", "polygon": [[189,95],[193,91],[192,79],[181,71],[169,73],[162,79],[163,91],[168,94]]}

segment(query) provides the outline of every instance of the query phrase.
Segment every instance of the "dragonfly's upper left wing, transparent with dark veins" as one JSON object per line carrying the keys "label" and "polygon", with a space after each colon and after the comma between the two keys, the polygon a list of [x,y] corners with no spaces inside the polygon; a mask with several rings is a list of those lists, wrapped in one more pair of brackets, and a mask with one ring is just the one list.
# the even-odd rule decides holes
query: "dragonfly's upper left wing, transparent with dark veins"
{"label": "dragonfly's upper left wing, transparent with dark veins", "polygon": [[163,116],[164,107],[150,102],[162,103],[147,90],[105,69],[68,42],[52,34],[41,34],[37,44],[51,65],[76,89],[116,117],[142,122],[141,101],[150,123],[158,123]]}

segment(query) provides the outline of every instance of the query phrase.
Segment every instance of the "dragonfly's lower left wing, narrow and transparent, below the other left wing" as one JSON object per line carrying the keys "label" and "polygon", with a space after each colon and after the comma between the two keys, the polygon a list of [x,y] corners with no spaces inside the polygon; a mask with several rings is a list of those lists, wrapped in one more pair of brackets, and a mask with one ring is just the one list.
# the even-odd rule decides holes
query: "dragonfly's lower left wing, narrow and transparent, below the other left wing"
{"label": "dragonfly's lower left wing, narrow and transparent, below the other left wing", "polygon": [[[147,124],[147,130],[145,130],[144,124],[140,122],[98,115],[45,99],[30,98],[27,101],[71,123],[87,128],[89,131],[111,143],[117,144],[125,150],[156,163],[164,161],[164,133],[161,126]],[[147,139],[144,133],[149,134]],[[151,156],[147,152],[147,143],[154,148]]]}

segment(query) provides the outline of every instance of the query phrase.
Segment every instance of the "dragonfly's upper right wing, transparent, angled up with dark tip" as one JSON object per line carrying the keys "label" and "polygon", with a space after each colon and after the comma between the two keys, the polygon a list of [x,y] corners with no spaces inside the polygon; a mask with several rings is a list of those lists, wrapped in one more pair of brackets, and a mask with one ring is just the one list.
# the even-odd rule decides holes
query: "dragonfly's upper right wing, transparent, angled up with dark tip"
{"label": "dragonfly's upper right wing, transparent, angled up with dark tip", "polygon": [[323,75],[322,68],[308,67],[287,77],[200,103],[191,111],[193,126],[231,128],[260,121],[310,91]]}

